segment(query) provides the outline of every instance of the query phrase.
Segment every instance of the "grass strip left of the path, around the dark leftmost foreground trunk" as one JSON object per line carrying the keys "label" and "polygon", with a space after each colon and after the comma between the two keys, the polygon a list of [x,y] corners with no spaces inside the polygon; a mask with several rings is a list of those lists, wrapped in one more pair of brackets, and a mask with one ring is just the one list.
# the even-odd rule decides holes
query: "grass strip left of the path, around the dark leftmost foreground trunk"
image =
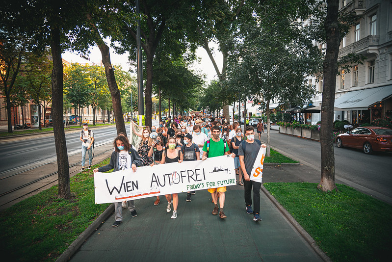
{"label": "grass strip left of the path, around the dark leftmost foreground trunk", "polygon": [[[5,261],[54,261],[109,206],[94,203],[94,167],[70,178],[71,199],[57,198],[58,186],[0,213],[0,252]],[[8,260],[9,258],[10,260]]]}

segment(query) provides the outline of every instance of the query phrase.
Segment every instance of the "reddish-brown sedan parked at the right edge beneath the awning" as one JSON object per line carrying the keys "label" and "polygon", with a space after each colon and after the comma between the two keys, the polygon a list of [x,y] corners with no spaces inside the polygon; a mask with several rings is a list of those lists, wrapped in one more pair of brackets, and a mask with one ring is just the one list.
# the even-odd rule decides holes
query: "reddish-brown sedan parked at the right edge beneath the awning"
{"label": "reddish-brown sedan parked at the right edge beneath the awning", "polygon": [[373,151],[392,151],[392,129],[359,127],[336,137],[337,147],[362,149],[365,154]]}

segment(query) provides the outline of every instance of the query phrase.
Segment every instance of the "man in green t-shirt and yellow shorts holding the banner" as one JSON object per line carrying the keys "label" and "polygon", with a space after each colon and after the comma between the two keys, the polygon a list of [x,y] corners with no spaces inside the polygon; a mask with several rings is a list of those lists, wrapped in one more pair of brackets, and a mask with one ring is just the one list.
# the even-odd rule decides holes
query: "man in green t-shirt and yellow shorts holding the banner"
{"label": "man in green t-shirt and yellow shorts holding the banner", "polygon": [[[211,128],[212,130],[212,137],[209,139],[209,141],[206,141],[204,143],[203,147],[203,157],[202,160],[206,160],[208,157],[219,157],[223,155],[229,155],[229,146],[227,145],[227,142],[224,141],[219,137],[220,134],[220,128],[218,126],[214,126]],[[209,143],[209,147],[207,144]],[[235,157],[235,154],[232,154],[232,157]],[[219,193],[219,206],[220,206],[220,211],[219,211],[219,217],[220,218],[226,218],[227,216],[223,212],[223,206],[225,205],[225,192],[226,192],[226,186],[218,187],[218,188],[209,188],[207,189],[211,193],[212,201],[215,204],[214,209],[212,210],[213,215],[218,214],[218,197],[216,192]]]}

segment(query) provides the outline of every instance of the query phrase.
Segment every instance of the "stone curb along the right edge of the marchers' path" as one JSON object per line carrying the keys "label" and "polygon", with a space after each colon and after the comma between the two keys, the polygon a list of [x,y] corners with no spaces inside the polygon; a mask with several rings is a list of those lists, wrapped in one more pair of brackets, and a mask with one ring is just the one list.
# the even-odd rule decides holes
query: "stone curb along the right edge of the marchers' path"
{"label": "stone curb along the right edge of the marchers' path", "polygon": [[309,243],[309,245],[313,248],[314,252],[317,253],[320,258],[325,262],[332,262],[332,260],[321,250],[321,248],[316,244],[316,241],[313,239],[308,232],[292,217],[292,215],[275,199],[273,195],[261,184],[261,191],[271,200],[271,202],[278,208],[279,211],[287,218],[287,220],[294,226],[294,228],[298,231],[301,236],[305,238],[305,240]]}

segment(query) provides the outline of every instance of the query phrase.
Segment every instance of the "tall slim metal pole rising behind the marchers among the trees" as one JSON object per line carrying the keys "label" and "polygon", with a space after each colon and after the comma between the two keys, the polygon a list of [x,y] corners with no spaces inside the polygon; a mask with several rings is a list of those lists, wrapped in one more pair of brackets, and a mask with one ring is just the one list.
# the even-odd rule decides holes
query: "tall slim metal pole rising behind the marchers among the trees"
{"label": "tall slim metal pole rising behind the marchers among the trees", "polygon": [[[139,0],[136,0],[136,14],[139,14]],[[139,111],[139,126],[143,126],[143,115],[144,115],[144,97],[143,97],[143,66],[142,66],[142,50],[140,47],[140,19],[137,20],[136,29],[136,67],[137,67],[137,109]]]}

